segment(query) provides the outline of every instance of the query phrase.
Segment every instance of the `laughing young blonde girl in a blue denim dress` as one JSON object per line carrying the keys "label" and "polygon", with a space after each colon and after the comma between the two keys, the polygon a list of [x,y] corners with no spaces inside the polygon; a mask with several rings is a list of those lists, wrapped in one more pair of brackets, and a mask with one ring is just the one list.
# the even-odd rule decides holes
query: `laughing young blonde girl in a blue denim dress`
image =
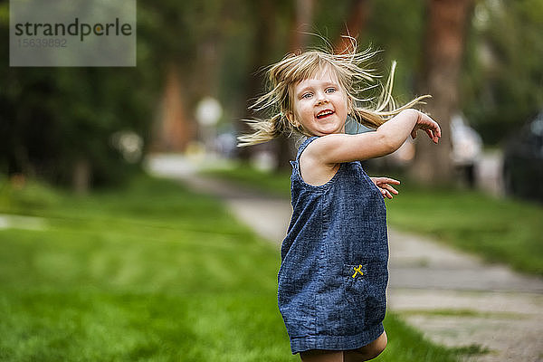
{"label": "laughing young blonde girl in a blue denim dress", "polygon": [[[290,54],[271,66],[271,90],[252,108],[270,119],[249,120],[254,133],[239,146],[296,131],[307,139],[291,162],[292,218],[281,245],[278,301],[293,354],[302,361],[365,361],[386,347],[388,242],[383,196],[399,184],[371,179],[360,162],[394,152],[424,129],[434,143],[438,124],[412,107],[395,108],[394,65],[374,110],[359,86],[375,76],[360,67],[374,53]],[[374,132],[349,135],[350,116]]]}

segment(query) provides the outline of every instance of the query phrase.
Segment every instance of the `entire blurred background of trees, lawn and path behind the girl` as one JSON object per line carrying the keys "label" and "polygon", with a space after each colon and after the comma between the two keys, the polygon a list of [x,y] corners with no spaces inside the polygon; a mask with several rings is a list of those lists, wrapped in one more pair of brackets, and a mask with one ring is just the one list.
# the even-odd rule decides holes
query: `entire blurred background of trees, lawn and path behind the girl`
{"label": "entire blurred background of trees, lawn and path behind the girl", "polygon": [[236,137],[268,65],[345,34],[443,129],[365,165],[402,180],[377,360],[543,356],[541,0],[139,0],[133,68],[9,67],[9,20],[0,0],[0,360],[298,360],[296,142]]}

